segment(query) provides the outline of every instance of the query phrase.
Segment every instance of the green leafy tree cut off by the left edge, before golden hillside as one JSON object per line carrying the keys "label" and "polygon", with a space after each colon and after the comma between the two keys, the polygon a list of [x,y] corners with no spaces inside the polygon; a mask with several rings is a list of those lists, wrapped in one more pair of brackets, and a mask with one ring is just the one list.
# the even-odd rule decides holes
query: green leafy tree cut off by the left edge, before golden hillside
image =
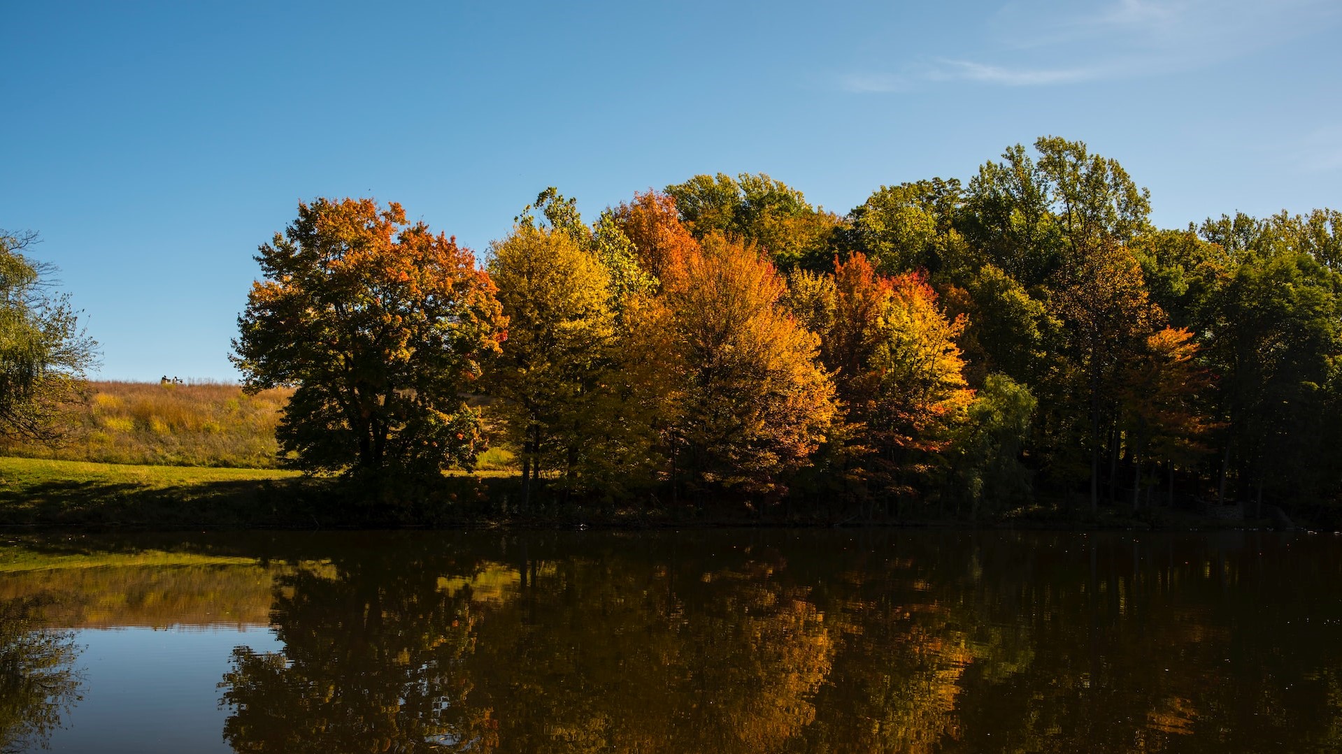
{"label": "green leafy tree cut off by the left edge, before golden hillside", "polygon": [[0,433],[56,443],[66,409],[85,398],[97,346],[66,294],[51,291],[54,270],[23,252],[34,232],[0,231]]}

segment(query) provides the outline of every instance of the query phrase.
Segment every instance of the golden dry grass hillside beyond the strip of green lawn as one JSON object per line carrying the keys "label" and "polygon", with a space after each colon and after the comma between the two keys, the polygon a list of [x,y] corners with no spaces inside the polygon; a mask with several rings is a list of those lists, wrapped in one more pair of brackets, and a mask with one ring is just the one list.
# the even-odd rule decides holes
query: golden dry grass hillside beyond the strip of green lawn
{"label": "golden dry grass hillside beyond the strip of green lawn", "polygon": [[0,440],[0,453],[24,457],[270,468],[275,423],[293,390],[244,394],[239,385],[90,382],[59,448]]}

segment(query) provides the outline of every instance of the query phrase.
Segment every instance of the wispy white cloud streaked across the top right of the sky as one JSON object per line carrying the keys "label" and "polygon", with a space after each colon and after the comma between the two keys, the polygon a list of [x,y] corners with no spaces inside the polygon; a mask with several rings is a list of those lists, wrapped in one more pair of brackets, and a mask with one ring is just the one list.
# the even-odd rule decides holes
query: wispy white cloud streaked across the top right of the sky
{"label": "wispy white cloud streaked across the top right of the sky", "polygon": [[994,56],[906,60],[894,72],[840,76],[839,86],[890,93],[943,82],[1037,87],[1150,76],[1206,67],[1339,20],[1334,0],[1118,0],[1082,15],[1013,4],[993,16]]}

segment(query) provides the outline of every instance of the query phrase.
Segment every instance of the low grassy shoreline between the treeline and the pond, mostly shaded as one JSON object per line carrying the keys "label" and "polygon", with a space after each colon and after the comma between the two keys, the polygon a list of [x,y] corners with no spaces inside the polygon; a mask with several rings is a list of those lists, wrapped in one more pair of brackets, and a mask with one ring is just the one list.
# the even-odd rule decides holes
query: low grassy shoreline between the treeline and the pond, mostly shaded
{"label": "low grassy shoreline between the treeline and the pond, mostly shaded", "polygon": [[[0,531],[187,530],[668,530],[668,529],[962,529],[1056,531],[1331,531],[1283,527],[1271,517],[1229,519],[1178,508],[1141,515],[1036,508],[992,521],[764,515],[550,503],[530,514],[506,510],[517,478],[498,472],[446,476],[433,502],[356,502],[331,479],[282,470],[129,466],[0,456]],[[743,511],[745,513],[745,511]]]}

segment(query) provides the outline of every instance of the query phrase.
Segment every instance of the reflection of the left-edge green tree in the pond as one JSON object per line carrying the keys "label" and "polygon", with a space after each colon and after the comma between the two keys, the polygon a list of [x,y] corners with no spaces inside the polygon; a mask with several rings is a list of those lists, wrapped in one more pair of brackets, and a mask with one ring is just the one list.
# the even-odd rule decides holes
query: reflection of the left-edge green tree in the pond
{"label": "reflection of the left-edge green tree in the pond", "polygon": [[72,632],[42,631],[34,600],[0,601],[0,751],[44,747],[79,696]]}

